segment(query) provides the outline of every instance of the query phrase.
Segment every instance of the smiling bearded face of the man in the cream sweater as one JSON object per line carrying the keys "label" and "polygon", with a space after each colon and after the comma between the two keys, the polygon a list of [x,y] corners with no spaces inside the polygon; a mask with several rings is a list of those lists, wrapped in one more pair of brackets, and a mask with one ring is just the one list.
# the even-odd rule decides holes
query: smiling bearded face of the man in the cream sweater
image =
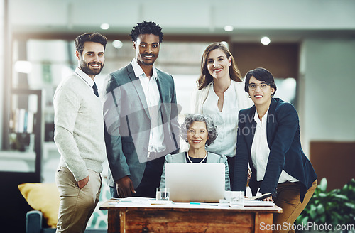
{"label": "smiling bearded face of the man in the cream sweater", "polygon": [[92,41],[84,43],[82,54],[76,51],[78,65],[80,70],[89,75],[94,80],[95,75],[98,75],[105,63],[104,45]]}

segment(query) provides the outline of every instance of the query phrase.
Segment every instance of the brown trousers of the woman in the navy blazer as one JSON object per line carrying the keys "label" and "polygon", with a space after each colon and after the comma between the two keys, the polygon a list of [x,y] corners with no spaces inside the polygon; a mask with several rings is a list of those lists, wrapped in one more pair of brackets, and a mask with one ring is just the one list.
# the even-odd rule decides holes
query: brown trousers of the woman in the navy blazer
{"label": "brown trousers of the woman in the navy blazer", "polygon": [[313,193],[315,193],[315,188],[317,188],[317,180],[312,183],[301,203],[300,187],[297,183],[286,182],[278,185],[278,188],[276,188],[278,195],[273,200],[275,205],[283,208],[283,213],[273,215],[273,224],[278,227],[273,233],[295,232],[292,229],[293,222],[305,209]]}

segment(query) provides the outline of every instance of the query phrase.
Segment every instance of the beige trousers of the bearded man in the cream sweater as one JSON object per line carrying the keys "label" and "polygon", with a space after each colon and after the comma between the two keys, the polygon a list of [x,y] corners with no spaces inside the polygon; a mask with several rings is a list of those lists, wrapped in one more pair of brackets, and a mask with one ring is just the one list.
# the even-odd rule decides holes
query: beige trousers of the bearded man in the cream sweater
{"label": "beige trousers of the bearded man in the cream sweater", "polygon": [[55,174],[60,194],[57,232],[84,232],[87,221],[99,202],[102,178],[99,173],[89,171],[89,182],[84,188],[77,187],[74,175],[61,167]]}

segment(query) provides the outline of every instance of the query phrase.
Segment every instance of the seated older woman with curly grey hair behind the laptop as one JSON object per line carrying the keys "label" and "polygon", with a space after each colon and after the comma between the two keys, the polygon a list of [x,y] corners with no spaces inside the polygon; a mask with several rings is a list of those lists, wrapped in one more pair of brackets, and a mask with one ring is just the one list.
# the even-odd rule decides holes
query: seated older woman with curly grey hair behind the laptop
{"label": "seated older woman with curly grey hair behind the laptop", "polygon": [[[231,190],[229,182],[229,168],[226,156],[207,152],[206,146],[213,143],[217,138],[217,126],[212,118],[203,114],[190,114],[185,118],[181,127],[182,139],[189,143],[187,152],[168,154],[165,156],[165,163],[224,163],[226,170],[226,190]],[[160,187],[165,187],[165,163],[161,175]]]}

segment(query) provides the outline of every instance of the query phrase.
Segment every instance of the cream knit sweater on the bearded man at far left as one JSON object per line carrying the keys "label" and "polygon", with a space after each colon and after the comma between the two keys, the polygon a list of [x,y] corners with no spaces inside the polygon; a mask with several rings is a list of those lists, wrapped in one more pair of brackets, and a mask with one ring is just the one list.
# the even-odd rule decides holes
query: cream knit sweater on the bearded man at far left
{"label": "cream knit sweater on the bearded man at far left", "polygon": [[99,98],[82,77],[73,74],[60,82],[53,104],[59,167],[67,167],[77,181],[89,175],[88,169],[101,173],[107,156]]}

